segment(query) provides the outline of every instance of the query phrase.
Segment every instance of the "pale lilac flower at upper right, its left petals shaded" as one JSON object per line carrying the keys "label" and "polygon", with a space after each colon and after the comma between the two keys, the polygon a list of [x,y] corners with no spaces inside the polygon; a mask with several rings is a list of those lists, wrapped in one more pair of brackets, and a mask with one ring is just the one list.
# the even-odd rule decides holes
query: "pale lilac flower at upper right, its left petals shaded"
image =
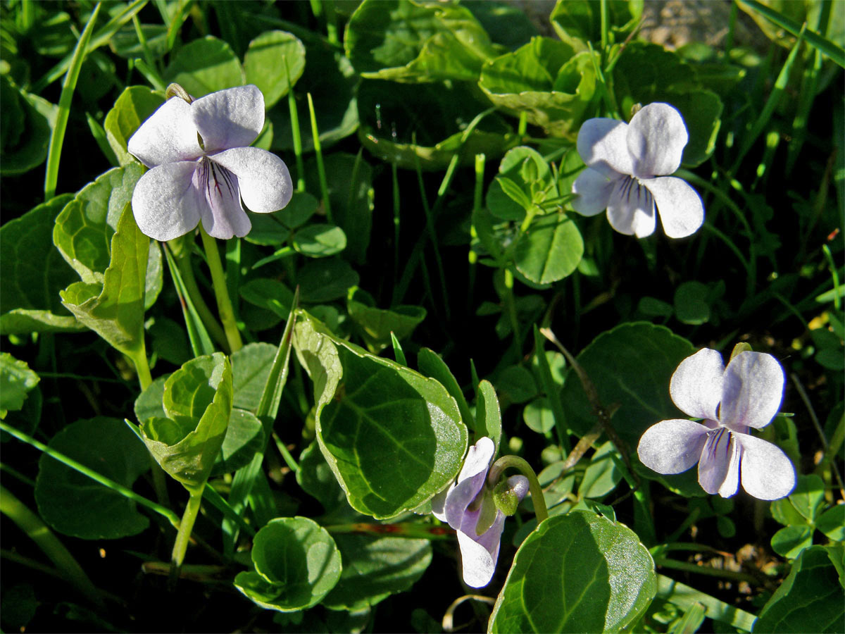
{"label": "pale lilac flower at upper right, its left petals shaded", "polygon": [[586,164],[575,183],[572,209],[584,216],[608,210],[619,233],[645,238],[660,213],[669,238],[685,238],[704,222],[704,205],[686,181],[668,176],[681,164],[689,140],[684,118],[668,103],[651,103],[631,123],[588,119],[578,132]]}

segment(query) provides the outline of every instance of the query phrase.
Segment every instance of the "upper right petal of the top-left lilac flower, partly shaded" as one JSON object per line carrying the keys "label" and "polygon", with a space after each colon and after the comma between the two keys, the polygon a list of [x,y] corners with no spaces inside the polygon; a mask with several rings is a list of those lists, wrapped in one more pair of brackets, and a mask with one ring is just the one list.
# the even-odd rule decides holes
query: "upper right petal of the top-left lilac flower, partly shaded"
{"label": "upper right petal of the top-left lilac flower, partly shaded", "polygon": [[264,127],[264,95],[254,85],[218,90],[191,104],[206,153],[246,147]]}

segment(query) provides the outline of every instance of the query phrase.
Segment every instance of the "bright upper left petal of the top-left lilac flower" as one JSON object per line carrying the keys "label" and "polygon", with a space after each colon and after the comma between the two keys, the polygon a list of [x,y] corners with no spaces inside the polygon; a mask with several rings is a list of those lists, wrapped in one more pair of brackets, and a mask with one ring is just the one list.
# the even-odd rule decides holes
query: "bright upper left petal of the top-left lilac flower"
{"label": "bright upper left petal of the top-left lilac flower", "polygon": [[128,150],[147,167],[202,156],[188,102],[168,99],[129,138]]}

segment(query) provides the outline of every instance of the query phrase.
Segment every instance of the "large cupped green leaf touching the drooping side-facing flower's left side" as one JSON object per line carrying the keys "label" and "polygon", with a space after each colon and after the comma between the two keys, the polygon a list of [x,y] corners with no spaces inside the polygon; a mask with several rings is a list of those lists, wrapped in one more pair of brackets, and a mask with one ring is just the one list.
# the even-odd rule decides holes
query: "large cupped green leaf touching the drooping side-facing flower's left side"
{"label": "large cupped green leaf touching the drooping side-facing flower's left side", "polygon": [[305,312],[294,347],[314,384],[320,451],[352,508],[396,516],[455,478],[466,426],[443,385],[336,338]]}

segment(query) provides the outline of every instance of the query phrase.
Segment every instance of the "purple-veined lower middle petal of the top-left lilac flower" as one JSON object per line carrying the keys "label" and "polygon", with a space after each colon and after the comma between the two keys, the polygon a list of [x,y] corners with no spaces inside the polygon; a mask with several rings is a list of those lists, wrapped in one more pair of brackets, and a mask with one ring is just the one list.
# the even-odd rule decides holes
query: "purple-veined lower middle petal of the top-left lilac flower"
{"label": "purple-veined lower middle petal of the top-left lilac flower", "polygon": [[206,202],[202,210],[206,233],[222,240],[247,235],[252,223],[241,206],[237,176],[226,167],[203,157],[194,173],[194,186]]}

